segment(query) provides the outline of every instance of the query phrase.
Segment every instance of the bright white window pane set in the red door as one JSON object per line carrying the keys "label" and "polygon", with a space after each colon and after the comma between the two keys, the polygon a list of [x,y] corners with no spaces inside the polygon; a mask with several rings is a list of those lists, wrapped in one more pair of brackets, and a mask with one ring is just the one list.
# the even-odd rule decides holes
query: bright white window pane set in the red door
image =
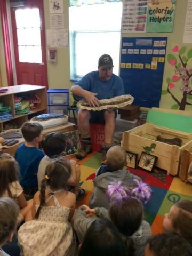
{"label": "bright white window pane set in the red door", "polygon": [[40,15],[38,8],[15,11],[19,61],[42,63]]}

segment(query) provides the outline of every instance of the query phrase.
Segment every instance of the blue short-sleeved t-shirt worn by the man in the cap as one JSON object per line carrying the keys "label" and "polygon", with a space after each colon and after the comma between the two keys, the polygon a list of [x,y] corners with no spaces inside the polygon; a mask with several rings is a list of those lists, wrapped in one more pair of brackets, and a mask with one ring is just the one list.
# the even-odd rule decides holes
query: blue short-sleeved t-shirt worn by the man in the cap
{"label": "blue short-sleeved t-shirt worn by the man in the cap", "polygon": [[98,93],[99,100],[110,99],[125,94],[123,80],[121,77],[112,74],[108,81],[99,78],[99,71],[92,71],[85,75],[75,85],[81,86],[84,90]]}

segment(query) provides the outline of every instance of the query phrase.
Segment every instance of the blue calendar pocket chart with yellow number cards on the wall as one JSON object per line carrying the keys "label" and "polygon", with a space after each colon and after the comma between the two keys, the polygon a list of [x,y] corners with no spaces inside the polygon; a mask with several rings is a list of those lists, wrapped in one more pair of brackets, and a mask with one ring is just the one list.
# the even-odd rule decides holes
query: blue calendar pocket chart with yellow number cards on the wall
{"label": "blue calendar pocket chart with yellow number cards on the wall", "polygon": [[120,76],[134,105],[159,107],[167,37],[123,37]]}

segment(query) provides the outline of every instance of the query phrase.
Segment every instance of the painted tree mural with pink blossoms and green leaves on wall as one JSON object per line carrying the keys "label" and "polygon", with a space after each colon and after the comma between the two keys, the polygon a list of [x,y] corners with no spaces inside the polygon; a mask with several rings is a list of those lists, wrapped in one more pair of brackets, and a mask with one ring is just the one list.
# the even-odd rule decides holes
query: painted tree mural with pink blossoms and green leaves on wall
{"label": "painted tree mural with pink blossoms and green leaves on wall", "polygon": [[[192,58],[192,49],[186,52],[186,46],[179,49],[179,46],[176,45],[173,47],[172,52],[174,52],[174,55],[168,54],[167,61],[174,68],[174,74],[171,78],[168,77],[166,79],[167,89],[162,90],[162,95],[171,94],[172,99],[175,101],[171,109],[185,110],[186,105],[192,106],[192,101],[190,103],[190,100],[192,100],[192,87],[190,87],[192,68],[188,67],[188,61]],[[176,97],[172,92],[177,83],[180,84],[180,98]]]}

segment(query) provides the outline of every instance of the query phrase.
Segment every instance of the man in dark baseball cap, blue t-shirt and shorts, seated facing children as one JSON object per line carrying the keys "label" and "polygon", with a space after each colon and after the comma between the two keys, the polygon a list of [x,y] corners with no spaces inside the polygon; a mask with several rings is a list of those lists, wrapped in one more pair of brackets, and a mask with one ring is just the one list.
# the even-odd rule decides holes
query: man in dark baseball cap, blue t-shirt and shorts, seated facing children
{"label": "man in dark baseball cap, blue t-shirt and shorts, seated facing children", "polygon": [[[121,77],[113,74],[113,60],[108,54],[103,54],[98,61],[98,70],[85,75],[80,81],[71,87],[71,92],[83,97],[91,107],[99,106],[99,100],[110,99],[124,93]],[[112,146],[111,142],[115,131],[116,110],[89,111],[78,110],[78,130],[81,134],[83,145],[77,152],[76,158],[83,159],[92,152],[90,139],[90,122],[105,124],[104,143],[102,147],[102,162],[105,164],[107,150]]]}

